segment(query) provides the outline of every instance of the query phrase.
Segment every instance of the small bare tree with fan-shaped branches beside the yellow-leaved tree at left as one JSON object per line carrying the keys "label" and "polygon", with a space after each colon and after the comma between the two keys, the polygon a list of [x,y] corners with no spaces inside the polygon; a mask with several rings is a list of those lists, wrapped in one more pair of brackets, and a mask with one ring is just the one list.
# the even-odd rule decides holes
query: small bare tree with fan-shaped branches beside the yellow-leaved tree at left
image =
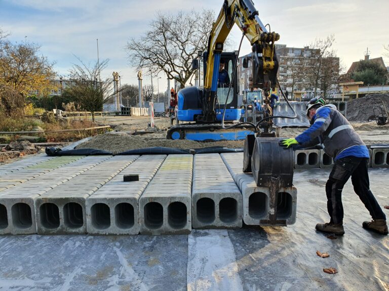
{"label": "small bare tree with fan-shaped branches beside the yellow-leaved tree at left", "polygon": [[89,111],[92,114],[92,121],[95,121],[95,112],[101,111],[103,104],[120,90],[113,90],[112,77],[100,78],[100,72],[107,67],[108,60],[96,62],[91,66],[85,64],[80,58],[77,59],[80,64],[73,65],[70,70],[71,82],[67,83],[69,87],[65,91],[84,110]]}

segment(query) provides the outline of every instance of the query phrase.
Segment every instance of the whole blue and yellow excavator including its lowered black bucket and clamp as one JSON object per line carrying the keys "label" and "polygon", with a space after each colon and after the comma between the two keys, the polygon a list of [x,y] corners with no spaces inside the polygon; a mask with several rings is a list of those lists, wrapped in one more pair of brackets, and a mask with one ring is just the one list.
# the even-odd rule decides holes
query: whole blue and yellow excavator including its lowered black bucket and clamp
{"label": "whole blue and yellow excavator including its lowered black bucket and clamp", "polygon": [[[259,13],[251,0],[224,0],[219,16],[214,23],[207,52],[203,54],[204,88],[186,87],[178,92],[177,119],[194,122],[172,126],[167,132],[170,139],[220,140],[244,139],[243,172],[251,172],[258,189],[268,192],[268,217],[261,225],[286,225],[278,215],[277,209],[285,201],[280,193],[292,189],[294,153],[291,148],[279,146],[280,138],[269,132],[269,124],[276,117],[295,118],[294,116],[266,116],[259,121],[234,122],[241,118],[237,93],[237,59],[243,38],[252,46],[252,53],[243,60],[243,67],[252,66],[252,88],[260,88],[265,100],[278,83],[278,60],[275,42],[280,35],[266,29],[259,19]],[[224,53],[223,44],[232,26],[237,24],[242,31],[238,53]],[[225,64],[225,70],[231,74],[229,84],[220,84],[219,65]],[[223,66],[220,66],[221,68]],[[198,63],[192,62],[192,69],[198,69]],[[288,103],[285,94],[285,101]],[[295,188],[293,188],[295,191]]]}

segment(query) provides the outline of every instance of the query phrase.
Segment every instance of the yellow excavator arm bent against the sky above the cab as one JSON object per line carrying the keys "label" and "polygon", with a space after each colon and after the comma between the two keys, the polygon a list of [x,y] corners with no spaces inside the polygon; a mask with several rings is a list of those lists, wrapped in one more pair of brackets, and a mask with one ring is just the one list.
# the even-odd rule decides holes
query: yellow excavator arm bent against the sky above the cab
{"label": "yellow excavator arm bent against the sky above the cab", "polygon": [[[223,43],[234,23],[242,30],[253,48],[250,60],[253,66],[251,87],[264,88],[266,91],[270,86],[275,86],[278,71],[275,41],[279,40],[280,35],[266,30],[251,0],[225,0],[208,40],[205,89],[214,89],[216,85],[215,69],[218,69]],[[214,68],[215,66],[217,68]]]}

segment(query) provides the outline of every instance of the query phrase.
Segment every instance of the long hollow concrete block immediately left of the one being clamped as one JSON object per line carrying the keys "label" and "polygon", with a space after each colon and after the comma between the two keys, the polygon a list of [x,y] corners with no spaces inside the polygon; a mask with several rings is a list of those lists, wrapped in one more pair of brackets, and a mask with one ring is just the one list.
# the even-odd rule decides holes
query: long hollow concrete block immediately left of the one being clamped
{"label": "long hollow concrete block immediately left of the one being clamped", "polygon": [[219,154],[195,155],[192,227],[242,227],[242,194]]}

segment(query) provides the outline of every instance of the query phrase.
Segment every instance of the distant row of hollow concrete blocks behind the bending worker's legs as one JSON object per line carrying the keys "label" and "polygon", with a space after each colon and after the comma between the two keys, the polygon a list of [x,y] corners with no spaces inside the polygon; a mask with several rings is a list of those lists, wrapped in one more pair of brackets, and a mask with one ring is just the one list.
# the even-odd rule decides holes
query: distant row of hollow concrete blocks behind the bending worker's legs
{"label": "distant row of hollow concrete blocks behind the bending worker's legs", "polygon": [[[369,167],[388,168],[389,149],[369,149]],[[334,164],[333,159],[323,150],[296,150],[294,151],[295,169],[329,168]]]}

